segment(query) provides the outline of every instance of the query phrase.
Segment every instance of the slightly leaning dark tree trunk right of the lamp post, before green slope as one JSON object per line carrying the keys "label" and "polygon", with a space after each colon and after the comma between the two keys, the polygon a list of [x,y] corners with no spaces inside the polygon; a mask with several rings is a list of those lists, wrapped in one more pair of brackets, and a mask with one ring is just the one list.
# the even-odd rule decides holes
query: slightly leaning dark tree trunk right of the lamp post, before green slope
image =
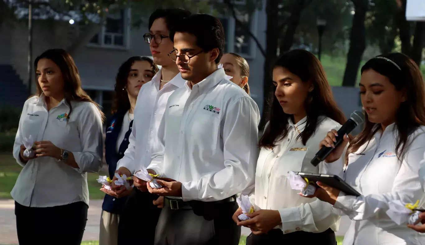
{"label": "slightly leaning dark tree trunk right of the lamp post, before green slope", "polygon": [[350,49],[347,54],[347,65],[344,73],[343,86],[354,87],[357,80],[363,52],[366,48],[365,17],[368,8],[367,0],[354,1],[355,14],[350,34]]}

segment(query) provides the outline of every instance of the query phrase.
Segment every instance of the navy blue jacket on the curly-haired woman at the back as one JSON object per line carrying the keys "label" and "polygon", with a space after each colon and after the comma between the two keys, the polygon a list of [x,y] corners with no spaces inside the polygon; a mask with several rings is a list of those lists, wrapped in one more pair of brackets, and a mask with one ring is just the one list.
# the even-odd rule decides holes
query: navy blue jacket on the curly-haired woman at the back
{"label": "navy blue jacket on the curly-haired woman at the back", "polygon": [[[133,127],[133,121],[130,122],[130,127],[125,133],[124,140],[119,145],[119,151],[116,152],[116,141],[118,140],[119,132],[122,127],[122,120],[125,112],[118,111],[109,118],[106,123],[106,138],[105,138],[105,159],[108,164],[109,177],[112,179],[116,170],[116,163],[124,156],[124,152],[128,147],[128,137],[130,136]],[[128,177],[128,176],[127,176]],[[105,194],[103,199],[102,210],[112,214],[119,214],[124,208],[127,197],[116,198]]]}

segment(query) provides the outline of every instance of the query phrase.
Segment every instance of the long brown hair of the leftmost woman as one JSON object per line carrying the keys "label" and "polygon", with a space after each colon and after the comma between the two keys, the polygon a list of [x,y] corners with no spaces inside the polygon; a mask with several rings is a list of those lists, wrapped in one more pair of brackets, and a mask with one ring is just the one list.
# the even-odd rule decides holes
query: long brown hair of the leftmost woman
{"label": "long brown hair of the leftmost woman", "polygon": [[[34,61],[34,70],[37,70],[37,64],[40,59],[50,59],[53,61],[62,72],[63,82],[64,82],[64,93],[65,93],[65,101],[69,106],[68,118],[72,113],[72,104],[71,101],[87,101],[96,105],[96,108],[99,110],[99,113],[102,117],[102,122],[105,120],[105,115],[102,110],[99,108],[99,104],[94,102],[87,93],[81,88],[81,79],[79,77],[77,66],[75,65],[74,59],[72,59],[71,55],[68,54],[65,50],[60,48],[48,49],[44,51],[40,56],[38,56]],[[36,96],[40,96],[43,91],[38,83],[38,78],[36,74],[36,86],[37,86],[37,94]]]}

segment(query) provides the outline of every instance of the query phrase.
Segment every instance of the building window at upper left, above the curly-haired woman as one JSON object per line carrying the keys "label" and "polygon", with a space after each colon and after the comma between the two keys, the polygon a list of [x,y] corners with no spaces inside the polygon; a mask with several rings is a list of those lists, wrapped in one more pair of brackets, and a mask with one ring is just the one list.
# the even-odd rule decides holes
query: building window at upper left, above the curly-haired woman
{"label": "building window at upper left, above the curly-haired woman", "polygon": [[126,48],[126,42],[129,35],[127,23],[129,23],[127,19],[127,10],[109,14],[106,17],[102,31],[90,40],[90,44],[102,47]]}

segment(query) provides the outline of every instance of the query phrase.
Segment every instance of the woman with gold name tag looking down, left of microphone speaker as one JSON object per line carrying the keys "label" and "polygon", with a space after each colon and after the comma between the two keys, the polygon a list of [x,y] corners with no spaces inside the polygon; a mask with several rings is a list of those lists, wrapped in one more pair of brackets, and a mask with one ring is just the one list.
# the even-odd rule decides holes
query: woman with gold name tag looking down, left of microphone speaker
{"label": "woman with gold name tag looking down, left of microphone speaker", "polygon": [[[335,245],[339,215],[328,203],[300,197],[299,190],[291,189],[288,171],[328,171],[326,164],[312,166],[310,161],[319,149],[320,135],[346,119],[332,98],[322,65],[308,51],[280,56],[273,67],[273,84],[272,113],[259,143],[255,191],[250,195],[255,212],[240,221],[239,208],[233,220],[251,228],[247,245]],[[331,172],[342,171],[342,165],[336,168]]]}

